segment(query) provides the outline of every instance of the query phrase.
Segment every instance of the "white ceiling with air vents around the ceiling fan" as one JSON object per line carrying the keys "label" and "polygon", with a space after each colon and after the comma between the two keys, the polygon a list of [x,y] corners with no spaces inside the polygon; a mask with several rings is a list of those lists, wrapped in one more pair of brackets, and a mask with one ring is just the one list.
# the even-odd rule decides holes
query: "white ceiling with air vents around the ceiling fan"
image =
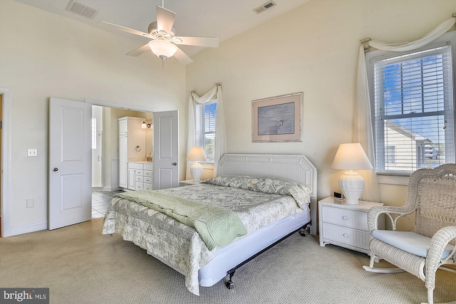
{"label": "white ceiling with air vents around the ceiling fan", "polygon": [[[162,0],[78,0],[99,10],[93,19],[88,19],[66,10],[71,0],[16,1],[92,26],[99,26],[100,21],[106,21],[146,33],[149,23],[156,21],[155,6],[162,6]],[[219,42],[222,42],[307,1],[309,0],[274,0],[276,6],[261,14],[253,10],[268,0],[164,0],[164,7],[177,14],[174,23],[177,36],[216,36]],[[106,31],[113,30],[106,29]],[[138,41],[138,47],[149,41],[147,38],[131,33],[113,32]],[[196,46],[180,46],[180,48],[188,56],[202,50]]]}

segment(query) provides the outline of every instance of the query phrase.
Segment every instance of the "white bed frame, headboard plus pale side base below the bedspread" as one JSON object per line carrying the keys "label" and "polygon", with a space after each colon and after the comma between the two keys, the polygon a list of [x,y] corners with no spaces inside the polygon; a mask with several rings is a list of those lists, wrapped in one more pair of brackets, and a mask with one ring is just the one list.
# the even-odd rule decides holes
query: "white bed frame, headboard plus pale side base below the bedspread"
{"label": "white bed frame, headboard plus pale side base below the bedspread", "polygon": [[[312,191],[310,212],[288,216],[217,251],[212,261],[198,271],[199,285],[212,286],[225,276],[232,288],[234,271],[250,259],[285,239],[301,227],[310,226],[316,234],[316,167],[300,154],[225,154],[220,159],[218,176],[242,175],[276,177],[299,182]],[[310,225],[309,222],[311,222]],[[300,231],[301,232],[301,231]]]}

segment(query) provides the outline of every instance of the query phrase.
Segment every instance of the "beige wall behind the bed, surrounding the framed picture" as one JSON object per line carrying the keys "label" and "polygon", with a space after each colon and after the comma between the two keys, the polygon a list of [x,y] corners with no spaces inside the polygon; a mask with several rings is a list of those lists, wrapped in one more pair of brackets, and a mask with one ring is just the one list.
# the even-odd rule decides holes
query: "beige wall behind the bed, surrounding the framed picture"
{"label": "beige wall behind the bed, surrounding the framed picture", "polygon": [[[318,199],[338,190],[338,145],[352,142],[360,40],[420,38],[456,13],[454,0],[311,0],[193,56],[187,95],[222,83],[227,152],[306,154],[318,169]],[[252,100],[304,92],[304,141],[252,143]],[[405,201],[406,187],[380,184],[380,200]]]}

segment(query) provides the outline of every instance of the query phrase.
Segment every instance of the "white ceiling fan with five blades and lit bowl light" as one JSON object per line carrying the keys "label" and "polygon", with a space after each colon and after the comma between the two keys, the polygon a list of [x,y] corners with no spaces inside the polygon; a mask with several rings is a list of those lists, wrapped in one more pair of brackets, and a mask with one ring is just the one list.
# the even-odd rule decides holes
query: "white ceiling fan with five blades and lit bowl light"
{"label": "white ceiling fan with five blades and lit bowl light", "polygon": [[165,9],[163,6],[162,0],[162,6],[157,6],[157,21],[153,21],[149,24],[147,33],[105,21],[100,21],[99,24],[107,28],[115,28],[116,30],[124,31],[126,33],[133,33],[138,36],[150,38],[149,43],[127,53],[128,56],[140,56],[142,53],[151,50],[158,58],[162,59],[162,62],[167,58],[175,56],[180,63],[188,64],[193,62],[192,58],[187,56],[187,54],[178,48],[177,45],[204,46],[209,48],[217,48],[219,46],[219,38],[217,37],[176,36],[175,28],[172,26],[176,14],[174,11]]}

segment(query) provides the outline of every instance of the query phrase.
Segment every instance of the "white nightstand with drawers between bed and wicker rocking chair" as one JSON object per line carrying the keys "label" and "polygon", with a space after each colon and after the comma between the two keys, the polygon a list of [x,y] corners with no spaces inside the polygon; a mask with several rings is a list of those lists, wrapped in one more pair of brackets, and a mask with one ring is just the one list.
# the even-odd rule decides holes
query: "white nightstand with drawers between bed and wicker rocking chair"
{"label": "white nightstand with drawers between bed and wicker rocking chair", "polygon": [[[369,254],[368,211],[373,206],[383,206],[372,201],[359,201],[358,205],[346,204],[333,196],[318,201],[320,246],[328,243]],[[383,229],[384,219],[379,219]]]}

